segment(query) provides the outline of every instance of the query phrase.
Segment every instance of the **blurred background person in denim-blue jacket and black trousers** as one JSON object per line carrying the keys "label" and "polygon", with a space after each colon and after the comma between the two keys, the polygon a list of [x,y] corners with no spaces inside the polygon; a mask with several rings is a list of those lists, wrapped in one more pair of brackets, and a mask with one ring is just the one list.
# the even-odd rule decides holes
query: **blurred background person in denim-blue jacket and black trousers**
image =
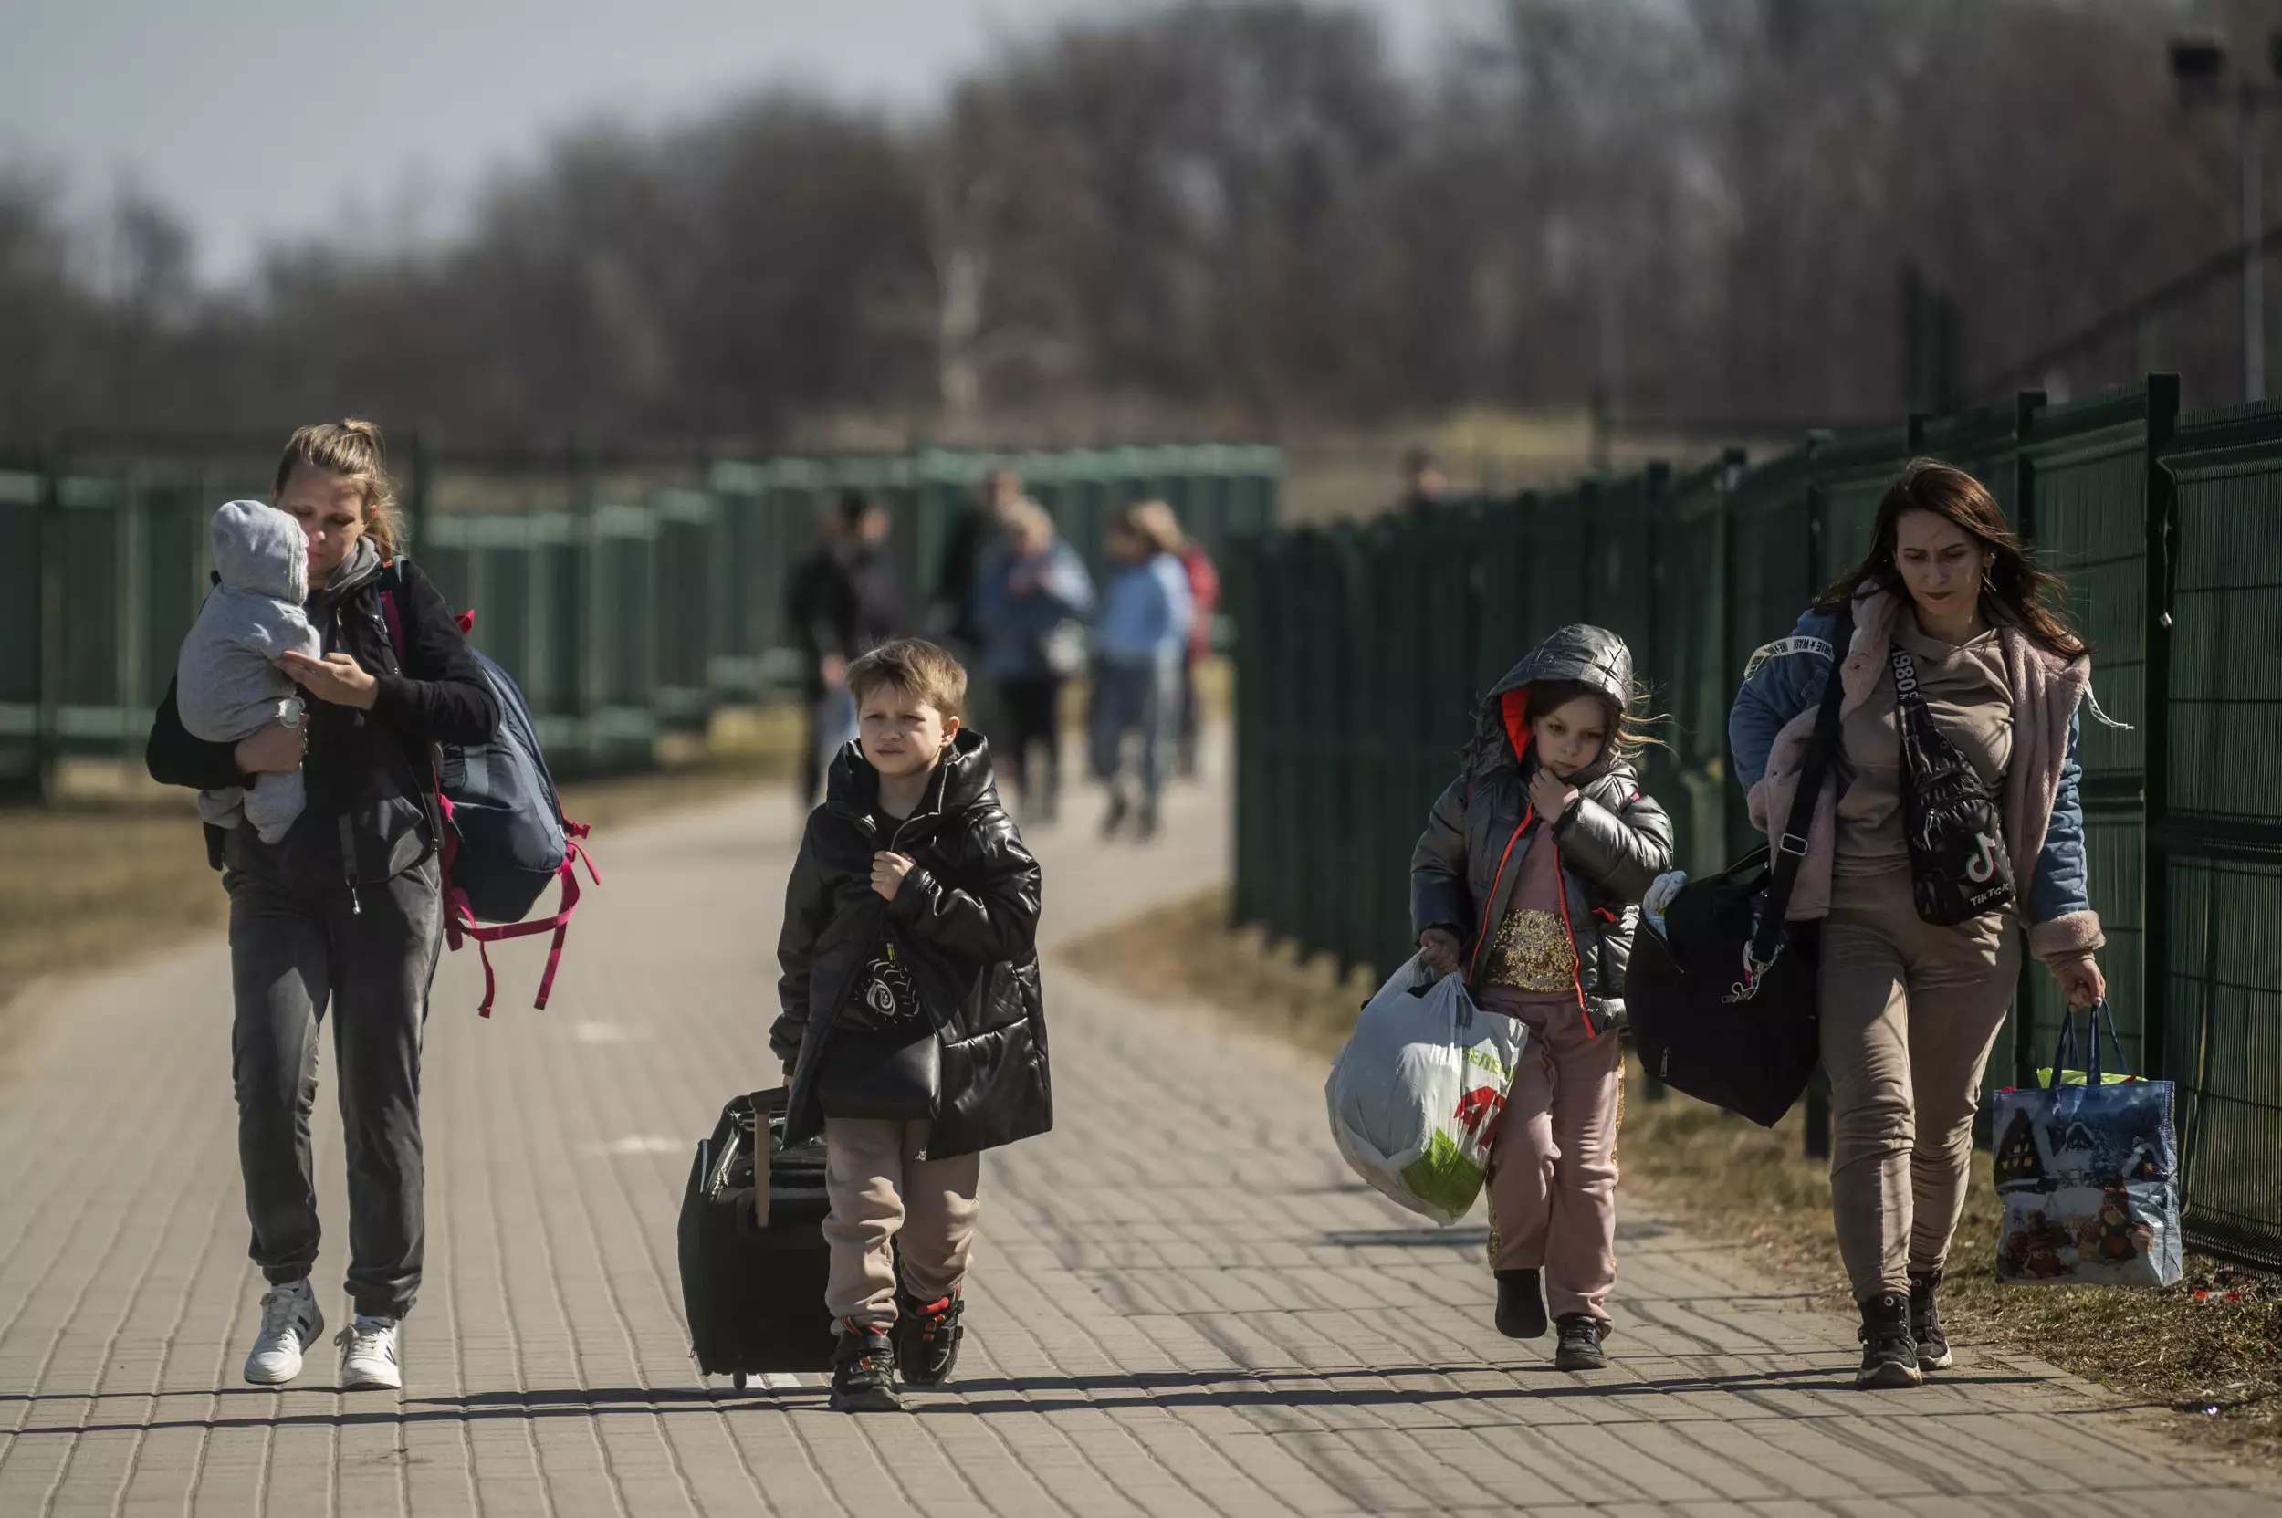
{"label": "blurred background person in denim-blue jacket and black trousers", "polygon": [[984,673],[1006,708],[1000,767],[1013,769],[1022,822],[1052,822],[1061,801],[1061,687],[1086,667],[1093,575],[1034,500],[1000,511],[974,594]]}

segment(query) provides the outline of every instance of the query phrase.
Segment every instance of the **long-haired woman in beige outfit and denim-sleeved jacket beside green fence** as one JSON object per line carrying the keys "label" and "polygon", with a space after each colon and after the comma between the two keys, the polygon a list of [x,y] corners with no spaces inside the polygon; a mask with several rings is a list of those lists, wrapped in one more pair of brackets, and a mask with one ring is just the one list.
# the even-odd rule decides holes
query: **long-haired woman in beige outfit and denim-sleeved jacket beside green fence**
{"label": "long-haired woman in beige outfit and denim-sleeved jacket beside green fence", "polygon": [[2020,982],[2015,920],[2072,1007],[2106,991],[2077,797],[2090,651],[2052,591],[1988,488],[1919,459],[1878,504],[1862,564],[1750,657],[1727,719],[1750,819],[1780,849],[1837,669],[1837,762],[1789,918],[1821,918],[1830,1205],[1867,1388],[1951,1365],[1935,1290],[1981,1071]]}

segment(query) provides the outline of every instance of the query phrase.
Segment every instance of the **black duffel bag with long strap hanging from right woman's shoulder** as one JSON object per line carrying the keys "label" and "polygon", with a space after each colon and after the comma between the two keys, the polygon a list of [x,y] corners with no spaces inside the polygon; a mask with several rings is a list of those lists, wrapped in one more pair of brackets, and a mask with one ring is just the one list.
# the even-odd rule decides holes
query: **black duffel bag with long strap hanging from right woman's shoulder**
{"label": "black duffel bag with long strap hanging from right woman's shoulder", "polygon": [[1664,909],[1661,934],[1643,915],[1625,970],[1641,1068],[1762,1128],[1791,1109],[1823,1050],[1814,986],[1821,931],[1816,922],[1785,922],[1782,913],[1839,744],[1839,660],[1848,641],[1851,616],[1839,621],[1830,651],[1782,847],[1753,849],[1721,874],[1682,886]]}

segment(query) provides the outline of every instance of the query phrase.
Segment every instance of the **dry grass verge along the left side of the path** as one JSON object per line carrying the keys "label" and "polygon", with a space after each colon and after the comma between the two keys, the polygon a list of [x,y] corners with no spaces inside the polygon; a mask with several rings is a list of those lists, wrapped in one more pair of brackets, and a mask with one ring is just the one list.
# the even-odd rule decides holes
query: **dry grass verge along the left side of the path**
{"label": "dry grass verge along the left side of the path", "polygon": [[[598,829],[783,781],[799,712],[723,712],[703,740],[662,751],[664,767],[564,785],[564,810]],[[602,858],[607,861],[607,840]],[[110,970],[228,918],[187,790],[96,776],[50,808],[0,810],[0,1059],[21,1041],[25,982]]]}

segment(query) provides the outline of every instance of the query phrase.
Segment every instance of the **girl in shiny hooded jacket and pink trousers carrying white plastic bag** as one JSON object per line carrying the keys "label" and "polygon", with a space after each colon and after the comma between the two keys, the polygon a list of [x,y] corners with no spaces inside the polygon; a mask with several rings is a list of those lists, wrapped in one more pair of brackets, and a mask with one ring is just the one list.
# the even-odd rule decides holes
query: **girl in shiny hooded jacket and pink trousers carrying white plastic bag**
{"label": "girl in shiny hooded jacket and pink trousers carrying white plastic bag", "polygon": [[[1410,858],[1419,959],[1527,1030],[1490,1144],[1497,1329],[1600,1370],[1616,1285],[1625,961],[1673,824],[1641,792],[1632,651],[1568,625],[1481,703],[1458,778]],[[1540,1281],[1543,1271],[1543,1281]]]}

